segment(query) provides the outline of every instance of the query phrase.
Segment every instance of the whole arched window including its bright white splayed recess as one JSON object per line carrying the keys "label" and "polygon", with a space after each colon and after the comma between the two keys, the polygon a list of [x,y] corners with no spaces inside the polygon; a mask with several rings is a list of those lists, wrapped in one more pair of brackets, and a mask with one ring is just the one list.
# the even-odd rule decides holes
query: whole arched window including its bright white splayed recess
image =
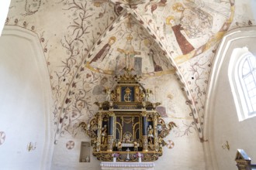
{"label": "whole arched window including its bright white splayed recess", "polygon": [[239,121],[256,116],[256,56],[246,47],[233,50],[229,79]]}

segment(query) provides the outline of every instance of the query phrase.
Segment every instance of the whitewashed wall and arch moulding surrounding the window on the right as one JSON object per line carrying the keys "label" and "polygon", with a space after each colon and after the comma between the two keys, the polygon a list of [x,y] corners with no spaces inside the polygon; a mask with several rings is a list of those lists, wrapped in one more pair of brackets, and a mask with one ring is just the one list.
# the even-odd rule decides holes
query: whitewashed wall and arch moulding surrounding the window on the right
{"label": "whitewashed wall and arch moulding surrounding the window on the right", "polygon": [[[256,163],[256,117],[238,121],[237,109],[231,91],[228,70],[236,48],[247,47],[256,54],[256,28],[234,29],[223,38],[218,49],[209,83],[209,100],[206,104],[206,139],[209,140],[213,169],[236,169],[237,149],[244,149]],[[238,57],[236,59],[239,59]],[[230,151],[222,145],[230,144]]]}

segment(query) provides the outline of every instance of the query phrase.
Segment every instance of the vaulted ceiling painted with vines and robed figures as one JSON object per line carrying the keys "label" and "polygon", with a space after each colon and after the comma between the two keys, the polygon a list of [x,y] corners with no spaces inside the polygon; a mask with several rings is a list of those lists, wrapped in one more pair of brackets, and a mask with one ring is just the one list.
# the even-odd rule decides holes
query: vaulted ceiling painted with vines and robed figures
{"label": "vaulted ceiling painted with vines and robed figures", "polygon": [[26,0],[12,2],[5,25],[39,36],[50,73],[57,135],[67,112],[76,117],[70,105],[84,107],[92,116],[91,105],[78,102],[90,84],[103,75],[112,81],[110,77],[126,67],[144,77],[175,74],[202,139],[213,56],[233,19],[233,0]]}

